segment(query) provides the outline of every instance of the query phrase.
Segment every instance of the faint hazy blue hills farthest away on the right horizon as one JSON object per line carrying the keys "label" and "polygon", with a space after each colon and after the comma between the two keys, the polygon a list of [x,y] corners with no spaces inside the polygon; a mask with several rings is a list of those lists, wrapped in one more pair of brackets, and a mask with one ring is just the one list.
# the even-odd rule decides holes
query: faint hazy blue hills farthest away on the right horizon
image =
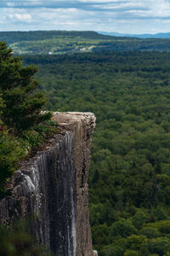
{"label": "faint hazy blue hills farthest away on the right horizon", "polygon": [[170,38],[170,32],[156,34],[122,34],[117,32],[99,32],[107,36],[128,37],[128,38]]}

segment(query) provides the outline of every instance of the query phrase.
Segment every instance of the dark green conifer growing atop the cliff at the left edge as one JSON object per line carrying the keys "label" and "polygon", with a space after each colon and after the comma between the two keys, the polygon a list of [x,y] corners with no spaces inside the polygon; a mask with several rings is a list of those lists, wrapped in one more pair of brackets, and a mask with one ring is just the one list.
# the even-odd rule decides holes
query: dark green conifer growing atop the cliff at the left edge
{"label": "dark green conifer growing atop the cliff at the left edge", "polygon": [[4,125],[13,128],[15,134],[51,117],[51,113],[41,112],[47,99],[37,91],[38,83],[33,78],[36,72],[36,67],[23,67],[20,57],[13,56],[12,49],[0,42],[1,120]]}

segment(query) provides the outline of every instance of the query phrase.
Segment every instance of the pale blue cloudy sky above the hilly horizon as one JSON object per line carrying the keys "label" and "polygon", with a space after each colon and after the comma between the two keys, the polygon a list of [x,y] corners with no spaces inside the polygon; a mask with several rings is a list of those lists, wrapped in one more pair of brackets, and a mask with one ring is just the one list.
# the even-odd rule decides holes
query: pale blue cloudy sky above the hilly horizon
{"label": "pale blue cloudy sky above the hilly horizon", "polygon": [[0,31],[170,32],[170,0],[0,0]]}

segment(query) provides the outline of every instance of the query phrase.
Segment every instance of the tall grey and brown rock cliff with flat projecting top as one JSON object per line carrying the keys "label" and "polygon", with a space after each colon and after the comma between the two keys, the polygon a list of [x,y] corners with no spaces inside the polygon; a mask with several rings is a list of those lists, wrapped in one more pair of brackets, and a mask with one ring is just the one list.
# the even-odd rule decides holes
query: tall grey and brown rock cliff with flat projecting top
{"label": "tall grey and brown rock cliff with flat projecting top", "polygon": [[93,113],[54,113],[59,135],[14,173],[0,223],[34,216],[31,234],[56,255],[93,256],[88,170]]}

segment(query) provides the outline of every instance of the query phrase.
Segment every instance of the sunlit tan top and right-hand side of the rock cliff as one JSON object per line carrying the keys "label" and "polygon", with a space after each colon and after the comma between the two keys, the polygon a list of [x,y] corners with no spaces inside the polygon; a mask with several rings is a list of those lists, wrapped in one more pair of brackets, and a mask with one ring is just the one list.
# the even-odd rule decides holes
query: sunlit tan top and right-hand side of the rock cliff
{"label": "sunlit tan top and right-hand side of the rock cliff", "polygon": [[77,170],[77,256],[93,256],[88,213],[88,170],[90,136],[95,127],[94,113],[54,113],[54,119],[74,131],[75,166]]}

